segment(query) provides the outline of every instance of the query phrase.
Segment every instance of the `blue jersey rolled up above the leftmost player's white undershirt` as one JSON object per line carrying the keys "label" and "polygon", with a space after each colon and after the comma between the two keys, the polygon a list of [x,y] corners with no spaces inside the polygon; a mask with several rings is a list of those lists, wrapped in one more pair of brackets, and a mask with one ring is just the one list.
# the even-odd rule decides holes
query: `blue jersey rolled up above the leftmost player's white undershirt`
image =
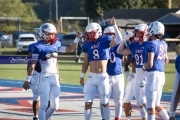
{"label": "blue jersey rolled up above the leftmost player's white undershirt", "polygon": [[[61,47],[61,42],[56,41],[53,44],[46,44],[44,41],[39,41],[32,47],[32,53],[39,54],[39,60],[45,61],[49,57],[53,57],[53,53],[58,53],[58,49]],[[56,56],[57,57],[57,56]]]}

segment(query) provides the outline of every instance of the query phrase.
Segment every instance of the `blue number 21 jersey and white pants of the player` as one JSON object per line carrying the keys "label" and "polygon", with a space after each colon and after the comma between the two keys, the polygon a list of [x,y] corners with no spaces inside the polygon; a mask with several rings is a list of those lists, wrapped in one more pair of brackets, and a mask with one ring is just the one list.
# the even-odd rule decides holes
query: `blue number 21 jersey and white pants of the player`
{"label": "blue number 21 jersey and white pants of the player", "polygon": [[134,94],[136,97],[136,102],[138,106],[146,103],[145,97],[145,87],[142,82],[145,79],[146,72],[142,70],[142,66],[147,61],[147,46],[149,42],[145,41],[141,45],[138,42],[133,42],[130,44],[129,49],[132,52],[132,56],[136,62],[136,74],[135,74],[135,83],[134,83]]}

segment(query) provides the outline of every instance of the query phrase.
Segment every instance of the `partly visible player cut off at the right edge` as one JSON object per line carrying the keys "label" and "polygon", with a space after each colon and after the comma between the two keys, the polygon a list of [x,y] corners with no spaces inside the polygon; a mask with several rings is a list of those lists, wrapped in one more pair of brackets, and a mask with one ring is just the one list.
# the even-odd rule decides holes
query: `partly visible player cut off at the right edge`
{"label": "partly visible player cut off at the right edge", "polygon": [[170,120],[175,120],[175,112],[176,108],[179,103],[180,99],[180,55],[176,57],[175,60],[175,69],[176,69],[176,74],[174,78],[174,90],[172,92],[171,96],[171,105],[170,105],[170,112],[169,112],[169,117]]}

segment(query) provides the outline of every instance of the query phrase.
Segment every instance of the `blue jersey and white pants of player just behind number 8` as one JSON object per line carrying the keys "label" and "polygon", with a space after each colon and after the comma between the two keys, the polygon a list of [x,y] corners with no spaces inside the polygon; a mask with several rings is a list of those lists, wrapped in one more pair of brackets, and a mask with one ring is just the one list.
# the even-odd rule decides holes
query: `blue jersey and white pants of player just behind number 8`
{"label": "blue jersey and white pants of player just behind number 8", "polygon": [[124,96],[124,75],[122,70],[123,55],[116,52],[117,48],[118,45],[110,48],[110,64],[107,65],[107,73],[109,75],[110,95],[113,94],[115,103],[115,118],[120,118]]}

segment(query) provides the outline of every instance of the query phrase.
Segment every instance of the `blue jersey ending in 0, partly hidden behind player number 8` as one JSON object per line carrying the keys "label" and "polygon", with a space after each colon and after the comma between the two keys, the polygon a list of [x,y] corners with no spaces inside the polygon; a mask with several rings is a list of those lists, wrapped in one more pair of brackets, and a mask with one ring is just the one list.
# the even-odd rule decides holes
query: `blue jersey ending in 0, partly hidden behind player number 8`
{"label": "blue jersey ending in 0, partly hidden behind player number 8", "polygon": [[109,60],[110,64],[107,65],[107,73],[108,75],[118,75],[122,74],[122,57],[123,55],[118,54],[117,51],[118,45],[115,47],[111,47],[109,50]]}

